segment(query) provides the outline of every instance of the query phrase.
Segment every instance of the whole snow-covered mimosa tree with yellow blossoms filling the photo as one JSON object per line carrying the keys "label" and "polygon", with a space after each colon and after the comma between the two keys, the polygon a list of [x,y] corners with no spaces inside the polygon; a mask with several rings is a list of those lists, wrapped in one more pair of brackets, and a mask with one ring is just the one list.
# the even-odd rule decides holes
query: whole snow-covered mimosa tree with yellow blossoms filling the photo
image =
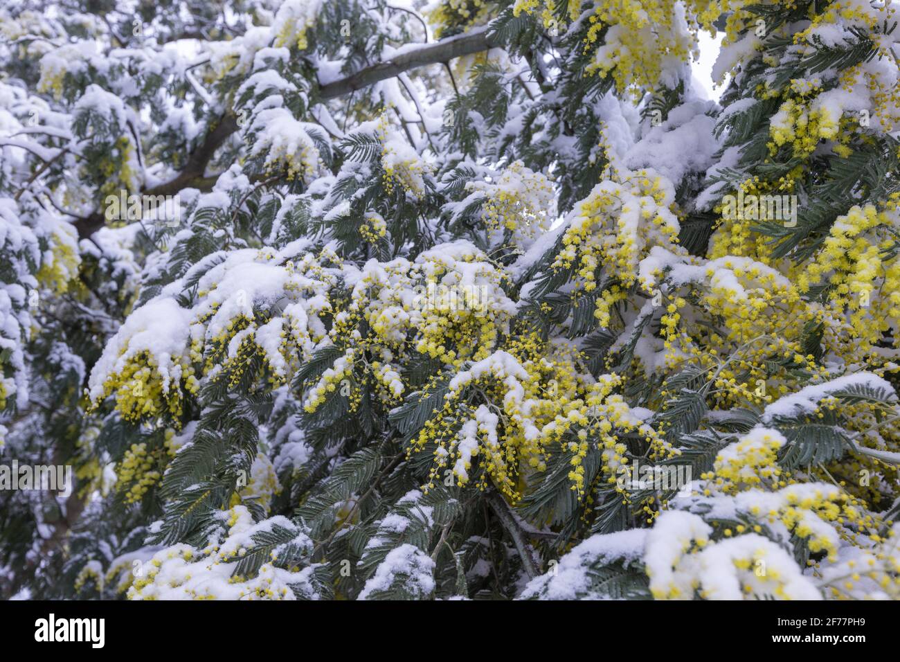
{"label": "whole snow-covered mimosa tree with yellow blossoms filling the photo", "polygon": [[895,5],[82,5],[0,9],[0,596],[900,598]]}

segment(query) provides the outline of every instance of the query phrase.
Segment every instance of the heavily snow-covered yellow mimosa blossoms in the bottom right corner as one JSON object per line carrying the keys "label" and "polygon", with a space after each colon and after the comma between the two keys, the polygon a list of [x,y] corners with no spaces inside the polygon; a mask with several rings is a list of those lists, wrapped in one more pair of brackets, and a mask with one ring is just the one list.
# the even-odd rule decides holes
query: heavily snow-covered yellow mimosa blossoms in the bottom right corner
{"label": "heavily snow-covered yellow mimosa blossoms in the bottom right corner", "polygon": [[[713,527],[698,515],[662,513],[645,552],[654,597],[817,599],[822,588],[835,596],[871,595],[873,588],[896,592],[895,534],[880,532],[885,522],[840,486],[790,479],[776,464],[785,443],[779,431],[755,428],[722,449],[713,470],[701,476],[698,503],[709,500],[718,513],[720,540],[711,540]],[[726,512],[733,514],[725,519],[741,523],[722,529]],[[773,534],[803,540],[824,560],[809,561],[813,571],[805,575]],[[866,577],[862,586],[860,575]]]}

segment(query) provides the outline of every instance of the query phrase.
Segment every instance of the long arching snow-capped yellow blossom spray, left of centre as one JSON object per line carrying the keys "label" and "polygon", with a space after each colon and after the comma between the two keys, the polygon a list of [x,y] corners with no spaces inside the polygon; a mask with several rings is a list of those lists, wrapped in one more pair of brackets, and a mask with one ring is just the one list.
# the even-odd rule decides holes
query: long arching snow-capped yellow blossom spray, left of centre
{"label": "long arching snow-capped yellow blossom spray, left of centre", "polygon": [[[117,409],[130,421],[162,413],[177,418],[185,392],[195,394],[203,376],[228,378],[233,387],[261,361],[277,386],[316,349],[348,343],[352,348],[307,394],[307,411],[316,411],[338,388],[355,408],[366,380],[384,404],[393,405],[407,391],[403,373],[411,357],[425,355],[454,367],[486,358],[516,312],[503,291],[505,276],[467,241],[426,251],[415,262],[372,260],[362,272],[340,266],[328,249],[304,253],[296,262],[272,251],[247,259],[244,252],[254,251],[240,251],[233,264],[202,277],[193,310],[158,300],[153,305],[159,313],[144,311],[132,320],[133,329],[123,327],[111,345],[117,354],[101,361],[114,367],[105,375],[95,369],[92,376],[94,406],[114,394]],[[350,275],[355,285],[349,296],[342,295],[336,285]],[[256,290],[257,282],[267,285]],[[274,298],[283,302],[278,313],[266,305]],[[160,349],[150,340],[164,331],[155,333],[147,324],[183,315],[189,324],[184,346],[166,330],[172,348],[157,357]],[[330,330],[323,315],[333,318]],[[140,351],[145,343],[148,349]]]}

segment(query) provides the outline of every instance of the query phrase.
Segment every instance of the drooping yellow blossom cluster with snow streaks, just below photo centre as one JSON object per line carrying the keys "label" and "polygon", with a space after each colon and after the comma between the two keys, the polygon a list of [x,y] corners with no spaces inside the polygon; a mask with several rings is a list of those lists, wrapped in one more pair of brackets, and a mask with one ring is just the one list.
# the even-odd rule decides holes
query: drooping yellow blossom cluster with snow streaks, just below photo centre
{"label": "drooping yellow blossom cluster with snow streaks, just below photo centre", "polygon": [[637,432],[653,457],[669,450],[613,393],[621,378],[604,375],[595,381],[582,373],[577,349],[548,344],[534,333],[510,340],[508,349],[458,373],[445,403],[414,440],[410,453],[433,449],[426,491],[451,477],[457,485],[468,484],[475,458],[481,458],[478,487],[484,489],[490,479],[516,501],[527,477],[545,471],[550,449],[562,447],[570,457],[572,490],[582,495],[587,491],[583,459],[591,448],[601,452],[601,476],[610,483],[626,462],[620,435]]}

